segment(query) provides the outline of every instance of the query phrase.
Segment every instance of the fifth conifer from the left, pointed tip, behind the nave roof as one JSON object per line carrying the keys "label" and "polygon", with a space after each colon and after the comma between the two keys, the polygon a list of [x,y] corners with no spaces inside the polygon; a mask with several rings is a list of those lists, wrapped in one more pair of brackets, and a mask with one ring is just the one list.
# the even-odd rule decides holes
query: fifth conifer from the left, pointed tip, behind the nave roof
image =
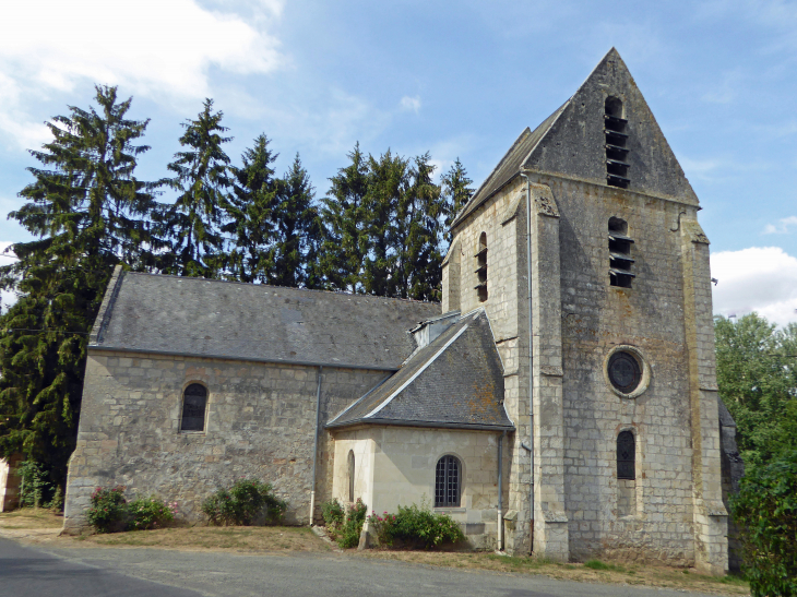
{"label": "fifth conifer from the left, pointed tip, behind the nave roof", "polygon": [[368,254],[366,231],[368,163],[359,143],[348,154],[350,164],[332,177],[332,188],[322,200],[324,225],[319,271],[330,290],[362,292],[362,262]]}

